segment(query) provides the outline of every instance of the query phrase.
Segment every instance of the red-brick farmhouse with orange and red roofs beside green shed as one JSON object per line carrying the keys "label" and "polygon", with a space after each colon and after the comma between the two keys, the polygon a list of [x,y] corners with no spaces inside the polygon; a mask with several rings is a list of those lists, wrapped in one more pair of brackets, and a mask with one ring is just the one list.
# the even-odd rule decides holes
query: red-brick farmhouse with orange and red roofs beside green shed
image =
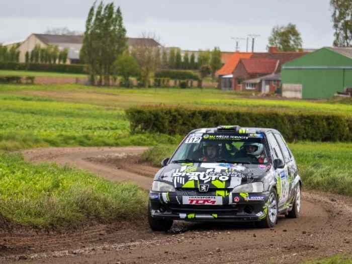
{"label": "red-brick farmhouse with orange and red roofs beside green shed", "polygon": [[[241,82],[248,79],[258,81],[258,77],[280,73],[284,63],[306,54],[308,52],[279,52],[276,47],[270,47],[268,52],[235,52],[231,59],[217,72],[219,75],[219,87],[222,90],[255,90],[266,93],[268,85],[274,89],[274,86],[280,86],[281,80],[266,80],[264,84],[260,81],[260,83],[256,82],[255,85],[254,82],[244,82],[243,85]],[[243,63],[243,60],[247,61]],[[280,77],[281,75],[274,76]],[[274,91],[269,89],[269,92],[272,93]]]}

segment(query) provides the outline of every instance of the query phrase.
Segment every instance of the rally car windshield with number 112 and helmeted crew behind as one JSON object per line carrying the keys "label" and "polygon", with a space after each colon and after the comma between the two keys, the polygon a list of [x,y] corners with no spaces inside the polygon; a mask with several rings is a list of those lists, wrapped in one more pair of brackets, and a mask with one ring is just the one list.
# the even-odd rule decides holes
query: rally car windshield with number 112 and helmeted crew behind
{"label": "rally car windshield with number 112 and helmeted crew behind", "polygon": [[187,136],[171,162],[268,163],[263,134],[231,132]]}

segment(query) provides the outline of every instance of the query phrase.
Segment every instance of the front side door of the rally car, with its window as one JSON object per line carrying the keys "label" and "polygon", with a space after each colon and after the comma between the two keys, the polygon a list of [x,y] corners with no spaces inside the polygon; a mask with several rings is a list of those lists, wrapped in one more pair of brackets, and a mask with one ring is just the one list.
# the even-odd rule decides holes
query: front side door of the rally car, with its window
{"label": "front side door of the rally car, with its window", "polygon": [[276,188],[278,192],[279,198],[279,208],[286,204],[289,199],[290,193],[290,184],[289,184],[289,173],[288,173],[288,166],[285,161],[285,157],[282,153],[278,140],[274,136],[274,133],[270,132],[268,135],[268,141],[272,147],[273,152],[273,160],[281,159],[284,161],[285,166],[284,168],[277,168],[276,169]]}

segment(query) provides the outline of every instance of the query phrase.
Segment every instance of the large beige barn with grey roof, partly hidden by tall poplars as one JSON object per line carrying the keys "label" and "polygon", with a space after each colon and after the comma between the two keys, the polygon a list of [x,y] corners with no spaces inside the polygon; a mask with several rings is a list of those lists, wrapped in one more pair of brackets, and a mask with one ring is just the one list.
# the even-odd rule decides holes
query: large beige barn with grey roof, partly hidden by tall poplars
{"label": "large beige barn with grey roof, partly hidden by tall poplars", "polygon": [[[59,50],[68,49],[68,64],[79,63],[79,51],[82,47],[82,35],[49,35],[49,34],[31,34],[25,41],[19,42],[20,62],[25,62],[26,52],[31,52],[36,45],[42,48],[48,45],[58,46]],[[8,47],[10,47],[9,44]],[[128,38],[128,48],[133,46],[147,45],[153,47],[161,47],[154,39],[150,38]]]}

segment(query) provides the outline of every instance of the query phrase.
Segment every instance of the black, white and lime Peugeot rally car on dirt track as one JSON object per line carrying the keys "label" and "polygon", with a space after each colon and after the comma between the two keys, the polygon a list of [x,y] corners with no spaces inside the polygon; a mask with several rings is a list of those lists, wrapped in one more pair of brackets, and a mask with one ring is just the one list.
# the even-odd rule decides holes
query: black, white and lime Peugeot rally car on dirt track
{"label": "black, white and lime Peugeot rally car on dirt track", "polygon": [[249,221],[269,228],[279,214],[299,216],[302,182],[275,129],[196,129],[161,165],[149,192],[154,231],[170,229],[173,220]]}

